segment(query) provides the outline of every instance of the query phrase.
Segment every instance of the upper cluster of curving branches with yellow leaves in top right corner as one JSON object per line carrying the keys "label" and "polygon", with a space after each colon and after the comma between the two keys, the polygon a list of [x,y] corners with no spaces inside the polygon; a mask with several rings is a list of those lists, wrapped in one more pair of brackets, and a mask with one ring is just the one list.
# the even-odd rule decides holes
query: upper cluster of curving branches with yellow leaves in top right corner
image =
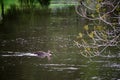
{"label": "upper cluster of curving branches with yellow leaves in top right corner", "polygon": [[[117,0],[80,0],[75,10],[88,20],[99,20],[110,26],[120,25],[120,1]],[[115,12],[118,12],[117,14]],[[110,21],[116,18],[117,23]]]}

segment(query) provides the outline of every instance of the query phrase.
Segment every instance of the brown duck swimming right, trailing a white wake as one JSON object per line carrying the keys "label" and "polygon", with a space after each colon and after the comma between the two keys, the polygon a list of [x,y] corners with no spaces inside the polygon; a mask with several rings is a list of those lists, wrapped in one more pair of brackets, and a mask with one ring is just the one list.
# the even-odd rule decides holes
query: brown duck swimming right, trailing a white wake
{"label": "brown duck swimming right, trailing a white wake", "polygon": [[50,60],[50,59],[51,59],[51,56],[52,56],[50,50],[48,50],[48,52],[37,51],[37,52],[34,52],[34,54],[36,54],[36,55],[37,55],[38,57],[40,57],[40,58],[46,58],[46,57],[47,57],[48,60]]}

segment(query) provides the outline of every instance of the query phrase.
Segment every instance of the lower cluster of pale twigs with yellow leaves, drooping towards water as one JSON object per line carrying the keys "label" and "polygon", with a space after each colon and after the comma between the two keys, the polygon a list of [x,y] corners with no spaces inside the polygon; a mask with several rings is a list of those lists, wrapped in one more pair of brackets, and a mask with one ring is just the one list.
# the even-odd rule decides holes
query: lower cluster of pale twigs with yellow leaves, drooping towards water
{"label": "lower cluster of pale twigs with yellow leaves, drooping towards water", "polygon": [[80,54],[84,57],[94,57],[100,55],[108,47],[118,46],[120,33],[116,34],[103,26],[94,26],[90,30],[89,25],[84,26],[84,31],[80,32],[75,45],[80,50]]}

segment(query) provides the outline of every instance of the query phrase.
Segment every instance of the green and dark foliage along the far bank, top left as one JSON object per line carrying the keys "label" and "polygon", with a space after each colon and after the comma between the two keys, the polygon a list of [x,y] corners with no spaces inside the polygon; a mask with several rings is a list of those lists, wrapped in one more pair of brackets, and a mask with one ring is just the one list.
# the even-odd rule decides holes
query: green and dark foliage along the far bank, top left
{"label": "green and dark foliage along the far bank, top left", "polygon": [[[0,21],[4,19],[4,16],[10,8],[13,9],[33,9],[36,8],[36,5],[42,8],[48,8],[51,0],[0,0]],[[12,7],[11,7],[12,6]],[[11,11],[12,12],[12,11]],[[14,11],[13,11],[14,12]]]}

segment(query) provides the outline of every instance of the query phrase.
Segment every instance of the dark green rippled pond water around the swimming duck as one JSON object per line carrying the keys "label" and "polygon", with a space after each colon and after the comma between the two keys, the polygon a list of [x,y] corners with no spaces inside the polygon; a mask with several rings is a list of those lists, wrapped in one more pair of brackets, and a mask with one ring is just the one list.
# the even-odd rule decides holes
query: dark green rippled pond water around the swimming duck
{"label": "dark green rippled pond water around the swimming duck", "polygon": [[[87,21],[73,8],[8,16],[0,25],[0,80],[120,80],[118,49],[91,60],[79,54],[73,40]],[[19,56],[39,50],[51,50],[51,60]]]}

